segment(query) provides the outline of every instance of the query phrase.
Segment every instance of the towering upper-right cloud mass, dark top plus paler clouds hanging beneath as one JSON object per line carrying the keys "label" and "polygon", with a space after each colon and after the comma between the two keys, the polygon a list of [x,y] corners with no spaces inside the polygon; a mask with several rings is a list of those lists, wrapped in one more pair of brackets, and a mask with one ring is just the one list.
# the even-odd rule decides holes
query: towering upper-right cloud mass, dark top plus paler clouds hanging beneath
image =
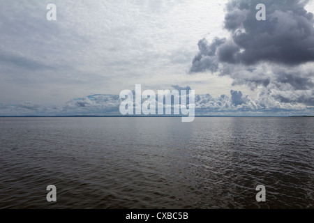
{"label": "towering upper-right cloud mass, dark top plus paler clouds hanging beneath", "polygon": [[[266,21],[257,21],[257,4],[266,6]],[[190,72],[218,72],[232,85],[261,86],[283,103],[313,105],[314,20],[303,0],[230,0],[224,27],[229,38],[202,39]],[[294,91],[298,91],[295,93]],[[301,92],[304,91],[304,92]],[[241,105],[239,92],[232,103]],[[272,100],[268,100],[272,101]],[[264,100],[262,103],[267,103]]]}

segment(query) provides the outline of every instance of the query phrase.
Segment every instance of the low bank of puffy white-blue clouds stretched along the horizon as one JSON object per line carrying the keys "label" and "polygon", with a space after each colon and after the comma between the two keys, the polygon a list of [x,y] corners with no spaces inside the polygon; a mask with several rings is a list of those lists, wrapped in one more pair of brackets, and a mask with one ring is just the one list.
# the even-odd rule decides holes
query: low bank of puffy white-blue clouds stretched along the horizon
{"label": "low bank of puffy white-blue clouds stretched along the horizon", "polygon": [[[190,86],[172,87],[179,90],[190,89]],[[64,105],[44,106],[31,102],[17,105],[0,104],[0,116],[120,115],[120,103],[119,95],[97,94],[74,98]],[[285,102],[284,98],[269,98],[266,93],[261,93],[257,99],[234,90],[218,97],[209,93],[195,95],[196,115],[289,116],[310,115],[313,112],[313,107],[300,105],[299,102]]]}

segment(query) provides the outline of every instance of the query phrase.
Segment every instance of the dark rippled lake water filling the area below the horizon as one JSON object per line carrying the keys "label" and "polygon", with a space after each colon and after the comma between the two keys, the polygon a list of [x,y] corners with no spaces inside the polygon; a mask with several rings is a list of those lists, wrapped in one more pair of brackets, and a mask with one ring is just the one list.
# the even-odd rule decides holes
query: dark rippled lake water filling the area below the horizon
{"label": "dark rippled lake water filling the area below the horizon", "polygon": [[0,118],[0,133],[0,208],[314,208],[314,118]]}

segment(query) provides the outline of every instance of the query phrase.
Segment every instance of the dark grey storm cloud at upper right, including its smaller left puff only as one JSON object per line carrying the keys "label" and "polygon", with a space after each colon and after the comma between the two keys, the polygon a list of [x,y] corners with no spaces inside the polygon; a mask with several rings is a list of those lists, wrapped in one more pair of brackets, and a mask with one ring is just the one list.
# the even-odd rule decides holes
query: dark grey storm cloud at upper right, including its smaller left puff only
{"label": "dark grey storm cloud at upper right, including its smaller left puff only", "polygon": [[260,61],[287,66],[314,61],[314,20],[304,6],[307,1],[262,1],[267,20],[257,21],[260,0],[234,0],[227,4],[225,29],[232,38],[200,40],[199,54],[191,72],[216,71],[219,62],[253,65]]}

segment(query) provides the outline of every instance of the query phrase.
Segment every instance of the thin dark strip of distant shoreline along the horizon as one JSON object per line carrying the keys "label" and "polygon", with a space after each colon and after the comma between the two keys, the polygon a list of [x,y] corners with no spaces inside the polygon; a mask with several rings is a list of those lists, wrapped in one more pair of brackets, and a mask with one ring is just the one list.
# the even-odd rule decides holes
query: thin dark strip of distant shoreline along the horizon
{"label": "thin dark strip of distant shoreline along the horizon", "polygon": [[[118,118],[118,117],[123,117],[123,118],[180,118],[180,117],[185,117],[185,116],[165,116],[165,115],[160,115],[160,116],[93,116],[93,115],[75,115],[75,116],[0,116],[0,118]],[[297,117],[306,117],[306,118],[313,118],[314,116],[195,116],[195,117],[239,117],[239,118],[297,118]]]}

